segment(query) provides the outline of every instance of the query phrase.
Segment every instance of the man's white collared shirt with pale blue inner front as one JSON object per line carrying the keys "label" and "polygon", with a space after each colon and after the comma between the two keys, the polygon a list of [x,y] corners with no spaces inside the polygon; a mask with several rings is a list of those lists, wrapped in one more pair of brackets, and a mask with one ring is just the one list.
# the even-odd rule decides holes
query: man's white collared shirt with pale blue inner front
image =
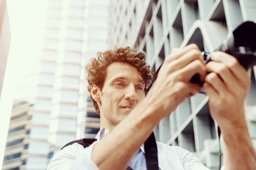
{"label": "man's white collared shirt with pale blue inner front", "polygon": [[[91,159],[92,150],[93,146],[108,133],[108,129],[102,128],[95,137],[97,141],[86,148],[78,143],[64,147],[53,156],[47,170],[99,170]],[[140,149],[145,154],[144,144],[141,145]],[[160,170],[209,170],[191,152],[181,147],[157,142],[157,151]],[[136,163],[132,162],[137,158],[141,160]],[[138,152],[129,165],[133,170],[146,170],[144,159],[145,156]]]}

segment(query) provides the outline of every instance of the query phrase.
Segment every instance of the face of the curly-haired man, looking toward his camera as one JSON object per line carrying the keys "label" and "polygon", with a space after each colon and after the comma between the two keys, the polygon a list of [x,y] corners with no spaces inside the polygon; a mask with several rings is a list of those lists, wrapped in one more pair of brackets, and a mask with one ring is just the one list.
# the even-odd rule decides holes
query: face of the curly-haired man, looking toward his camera
{"label": "face of the curly-haired man, looking toward his camera", "polygon": [[114,62],[100,96],[101,116],[113,125],[121,122],[144,98],[145,83],[137,69],[127,63]]}

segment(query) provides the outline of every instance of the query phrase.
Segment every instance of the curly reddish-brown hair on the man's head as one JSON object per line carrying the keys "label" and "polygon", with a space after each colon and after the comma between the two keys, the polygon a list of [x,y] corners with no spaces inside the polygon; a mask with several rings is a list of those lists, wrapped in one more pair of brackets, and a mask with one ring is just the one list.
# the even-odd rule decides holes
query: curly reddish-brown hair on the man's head
{"label": "curly reddish-brown hair on the man's head", "polygon": [[[142,78],[146,87],[150,84],[154,71],[145,62],[144,52],[138,52],[137,48],[116,48],[105,52],[98,52],[96,58],[92,58],[85,68],[87,73],[87,81],[89,83],[87,89],[91,92],[91,85],[95,84],[102,90],[106,77],[106,70],[113,62],[125,62],[135,68],[142,74]],[[90,95],[95,110],[100,113],[97,102]]]}

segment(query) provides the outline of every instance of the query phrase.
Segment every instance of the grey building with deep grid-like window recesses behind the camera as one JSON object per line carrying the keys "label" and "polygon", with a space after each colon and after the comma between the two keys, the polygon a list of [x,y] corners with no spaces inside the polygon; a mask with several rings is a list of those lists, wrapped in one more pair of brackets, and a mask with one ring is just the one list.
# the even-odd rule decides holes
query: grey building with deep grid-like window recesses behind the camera
{"label": "grey building with deep grid-like window recesses behind the camera", "polygon": [[[195,43],[201,51],[214,51],[240,23],[256,20],[255,6],[253,0],[112,0],[108,43],[110,48],[139,47],[157,70],[175,47]],[[256,68],[245,105],[256,147],[255,73]],[[207,100],[204,94],[186,99],[159,123],[154,134],[158,141],[189,150],[211,170],[217,170],[217,125]]]}

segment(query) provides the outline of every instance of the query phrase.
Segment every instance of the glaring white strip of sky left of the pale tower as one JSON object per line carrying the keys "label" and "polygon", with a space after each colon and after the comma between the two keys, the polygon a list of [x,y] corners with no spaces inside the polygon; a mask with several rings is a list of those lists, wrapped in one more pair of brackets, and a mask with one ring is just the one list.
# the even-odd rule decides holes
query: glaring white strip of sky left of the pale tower
{"label": "glaring white strip of sky left of the pale tower", "polygon": [[[0,169],[9,129],[12,102],[17,77],[29,70],[43,43],[48,0],[7,0],[12,40],[9,49],[3,91],[0,100]],[[26,68],[26,69],[25,69]]]}

